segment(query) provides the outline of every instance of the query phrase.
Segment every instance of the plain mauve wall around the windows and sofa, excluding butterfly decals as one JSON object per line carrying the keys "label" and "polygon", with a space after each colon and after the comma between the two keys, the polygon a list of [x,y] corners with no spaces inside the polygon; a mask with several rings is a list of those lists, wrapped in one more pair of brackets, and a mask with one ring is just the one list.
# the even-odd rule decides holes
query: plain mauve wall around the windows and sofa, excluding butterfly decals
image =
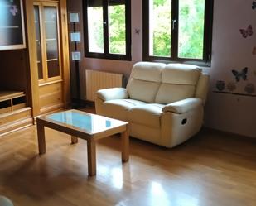
{"label": "plain mauve wall around the windows and sofa, excluding butterfly decals", "polygon": [[[226,84],[234,82],[237,93],[245,93],[244,86],[249,82],[256,86],[256,55],[252,54],[256,46],[256,9],[251,6],[251,0],[215,0],[212,64],[204,69],[210,74],[205,126],[256,137],[256,97],[213,93],[218,80]],[[249,24],[253,26],[254,35],[243,38],[239,29],[246,29]],[[141,31],[139,35],[135,34],[135,29]],[[132,42],[131,62],[84,58],[80,69],[81,87],[85,88],[85,69],[123,73],[128,78],[133,64],[142,60],[142,0],[132,0]],[[236,83],[231,70],[240,71],[244,67],[249,68],[248,80]]]}

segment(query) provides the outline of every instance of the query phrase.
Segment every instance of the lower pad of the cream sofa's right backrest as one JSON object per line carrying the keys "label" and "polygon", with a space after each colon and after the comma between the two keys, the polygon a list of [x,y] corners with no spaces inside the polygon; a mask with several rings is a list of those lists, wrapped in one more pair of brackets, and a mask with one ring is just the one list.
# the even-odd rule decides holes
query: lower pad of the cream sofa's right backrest
{"label": "lower pad of the cream sofa's right backrest", "polygon": [[192,98],[195,88],[193,85],[161,84],[155,102],[173,103],[184,98]]}

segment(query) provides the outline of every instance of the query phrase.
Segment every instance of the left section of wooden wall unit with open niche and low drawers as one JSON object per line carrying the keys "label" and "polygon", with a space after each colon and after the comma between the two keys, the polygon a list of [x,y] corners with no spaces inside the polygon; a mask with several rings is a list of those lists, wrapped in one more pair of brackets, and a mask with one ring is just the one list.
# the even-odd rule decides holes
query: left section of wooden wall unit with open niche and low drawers
{"label": "left section of wooden wall unit with open niche and low drawers", "polygon": [[33,123],[23,2],[0,3],[0,137]]}

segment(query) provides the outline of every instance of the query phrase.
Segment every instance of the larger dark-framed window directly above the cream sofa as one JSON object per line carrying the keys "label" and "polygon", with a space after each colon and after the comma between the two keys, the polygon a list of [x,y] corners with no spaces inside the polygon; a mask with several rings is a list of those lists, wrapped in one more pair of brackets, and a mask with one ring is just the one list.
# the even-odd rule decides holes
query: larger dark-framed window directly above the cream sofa
{"label": "larger dark-framed window directly above the cream sofa", "polygon": [[143,60],[210,65],[212,0],[143,0]]}

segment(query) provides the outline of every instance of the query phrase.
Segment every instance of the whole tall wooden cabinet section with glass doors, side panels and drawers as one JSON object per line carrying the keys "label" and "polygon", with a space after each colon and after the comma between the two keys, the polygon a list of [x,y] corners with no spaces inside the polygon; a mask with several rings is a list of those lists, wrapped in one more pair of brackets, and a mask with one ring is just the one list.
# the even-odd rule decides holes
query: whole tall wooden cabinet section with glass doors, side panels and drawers
{"label": "whole tall wooden cabinet section with glass doors, side panels and drawers", "polygon": [[70,104],[70,60],[65,0],[26,3],[33,114]]}

